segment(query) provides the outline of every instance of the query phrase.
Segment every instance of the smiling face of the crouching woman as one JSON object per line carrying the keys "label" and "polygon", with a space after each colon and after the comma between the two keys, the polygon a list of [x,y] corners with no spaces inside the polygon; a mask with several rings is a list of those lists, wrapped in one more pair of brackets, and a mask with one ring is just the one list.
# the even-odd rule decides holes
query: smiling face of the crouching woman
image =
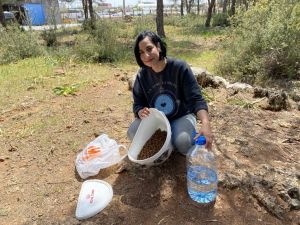
{"label": "smiling face of the crouching woman", "polygon": [[160,46],[151,42],[149,37],[145,37],[139,43],[140,57],[142,62],[148,67],[155,67],[159,61]]}

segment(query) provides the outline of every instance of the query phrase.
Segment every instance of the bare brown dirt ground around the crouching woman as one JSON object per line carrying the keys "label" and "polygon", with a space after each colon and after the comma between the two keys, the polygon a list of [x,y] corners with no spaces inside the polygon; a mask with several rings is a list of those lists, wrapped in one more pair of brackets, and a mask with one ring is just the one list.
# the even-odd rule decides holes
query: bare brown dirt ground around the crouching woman
{"label": "bare brown dirt ground around the crouching woman", "polygon": [[220,180],[213,207],[189,199],[185,158],[174,153],[157,167],[126,160],[101,170],[92,178],[112,185],[112,202],[90,219],[75,218],[83,182],[75,170],[77,154],[102,133],[130,144],[131,93],[114,76],[71,97],[24,98],[0,114],[0,224],[300,224],[299,111],[228,104],[254,101],[251,91],[207,92],[214,96],[209,106]]}

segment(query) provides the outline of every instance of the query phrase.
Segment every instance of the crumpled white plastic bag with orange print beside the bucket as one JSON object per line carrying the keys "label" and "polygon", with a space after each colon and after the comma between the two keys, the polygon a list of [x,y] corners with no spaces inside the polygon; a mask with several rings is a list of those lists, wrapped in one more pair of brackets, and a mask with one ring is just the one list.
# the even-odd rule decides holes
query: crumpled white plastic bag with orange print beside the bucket
{"label": "crumpled white plastic bag with orange print beside the bucket", "polygon": [[[121,156],[120,148],[126,150],[126,154]],[[102,134],[90,142],[77,155],[76,169],[82,179],[97,175],[100,169],[112,166],[127,156],[127,149],[124,145],[119,145],[115,140]]]}

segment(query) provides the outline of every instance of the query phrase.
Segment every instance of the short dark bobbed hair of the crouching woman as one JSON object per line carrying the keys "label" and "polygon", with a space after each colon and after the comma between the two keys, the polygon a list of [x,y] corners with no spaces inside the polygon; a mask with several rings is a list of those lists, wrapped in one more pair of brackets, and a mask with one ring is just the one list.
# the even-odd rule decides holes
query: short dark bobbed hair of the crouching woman
{"label": "short dark bobbed hair of the crouching woman", "polygon": [[161,49],[161,52],[159,53],[159,60],[162,60],[164,57],[167,56],[167,44],[156,33],[150,30],[143,31],[139,33],[134,44],[135,59],[140,67],[145,67],[145,64],[141,60],[139,48],[140,41],[142,41],[145,37],[148,37],[155,46],[158,46],[159,43]]}

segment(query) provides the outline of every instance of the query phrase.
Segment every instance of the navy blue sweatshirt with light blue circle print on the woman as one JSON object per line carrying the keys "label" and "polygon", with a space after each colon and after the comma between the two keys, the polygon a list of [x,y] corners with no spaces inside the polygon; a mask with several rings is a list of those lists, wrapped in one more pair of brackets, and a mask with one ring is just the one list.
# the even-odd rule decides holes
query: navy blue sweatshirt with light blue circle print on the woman
{"label": "navy blue sweatshirt with light blue circle print on the woman", "polygon": [[166,67],[159,73],[150,67],[138,71],[133,100],[136,117],[144,107],[164,112],[169,120],[208,109],[191,68],[186,62],[174,58],[167,58]]}

